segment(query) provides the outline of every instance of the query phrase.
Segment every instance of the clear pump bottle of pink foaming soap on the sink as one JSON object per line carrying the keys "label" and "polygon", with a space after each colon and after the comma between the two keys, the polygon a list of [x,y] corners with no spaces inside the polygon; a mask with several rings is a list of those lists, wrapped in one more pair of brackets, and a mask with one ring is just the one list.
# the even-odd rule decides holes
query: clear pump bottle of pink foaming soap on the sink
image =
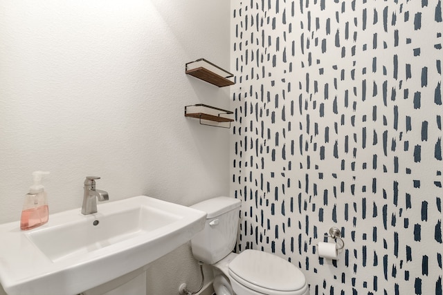
{"label": "clear pump bottle of pink foaming soap on the sink", "polygon": [[34,171],[34,184],[30,186],[29,193],[25,195],[23,210],[21,211],[20,229],[33,229],[48,222],[48,198],[44,186],[41,184],[42,175],[46,171]]}

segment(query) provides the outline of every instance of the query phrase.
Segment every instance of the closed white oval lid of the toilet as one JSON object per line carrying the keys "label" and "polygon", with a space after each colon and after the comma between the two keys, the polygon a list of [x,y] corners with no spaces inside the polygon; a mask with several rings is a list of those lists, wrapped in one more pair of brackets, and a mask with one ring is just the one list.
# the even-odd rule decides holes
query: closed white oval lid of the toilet
{"label": "closed white oval lid of the toilet", "polygon": [[254,289],[291,292],[306,285],[305,276],[287,260],[263,251],[247,249],[228,265],[230,274],[242,285]]}

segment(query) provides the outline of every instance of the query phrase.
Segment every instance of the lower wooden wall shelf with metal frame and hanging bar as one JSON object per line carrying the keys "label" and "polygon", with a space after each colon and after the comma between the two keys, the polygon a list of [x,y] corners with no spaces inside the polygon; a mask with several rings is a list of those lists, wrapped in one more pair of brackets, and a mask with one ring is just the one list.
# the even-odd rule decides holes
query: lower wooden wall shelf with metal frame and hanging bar
{"label": "lower wooden wall shelf with metal frame and hanging bar", "polygon": [[227,115],[232,114],[233,112],[231,111],[215,108],[214,106],[208,106],[206,104],[185,106],[185,117],[197,118],[202,125],[230,128],[230,122],[234,120]]}

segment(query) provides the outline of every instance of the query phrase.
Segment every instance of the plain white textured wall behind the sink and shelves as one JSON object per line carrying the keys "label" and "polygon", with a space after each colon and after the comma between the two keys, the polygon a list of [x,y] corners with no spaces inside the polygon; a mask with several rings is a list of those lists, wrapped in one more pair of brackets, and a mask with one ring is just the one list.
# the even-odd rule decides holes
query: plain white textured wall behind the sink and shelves
{"label": "plain white textured wall behind the sink and shelves", "polygon": [[183,107],[229,106],[184,74],[200,57],[228,68],[229,16],[228,1],[0,0],[0,222],[19,220],[35,170],[51,171],[50,213],[81,206],[86,175],[111,201],[226,195],[229,131]]}

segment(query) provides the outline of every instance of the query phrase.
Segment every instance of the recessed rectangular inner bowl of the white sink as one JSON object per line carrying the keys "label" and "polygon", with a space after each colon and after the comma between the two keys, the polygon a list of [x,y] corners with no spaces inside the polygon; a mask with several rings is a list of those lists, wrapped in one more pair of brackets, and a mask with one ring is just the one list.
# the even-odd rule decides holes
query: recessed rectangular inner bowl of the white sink
{"label": "recessed rectangular inner bowl of the white sink", "polygon": [[181,220],[181,216],[135,204],[135,207],[113,213],[100,211],[95,218],[79,218],[57,227],[31,231],[26,236],[49,259],[57,262],[73,256],[81,258],[91,251],[137,236],[147,236],[177,220]]}

